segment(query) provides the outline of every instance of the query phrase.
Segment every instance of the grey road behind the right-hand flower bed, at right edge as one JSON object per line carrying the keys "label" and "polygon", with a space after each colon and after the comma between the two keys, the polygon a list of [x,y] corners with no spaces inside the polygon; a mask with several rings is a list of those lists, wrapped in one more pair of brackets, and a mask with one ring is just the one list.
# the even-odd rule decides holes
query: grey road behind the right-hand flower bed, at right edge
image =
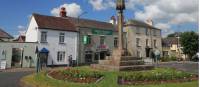
{"label": "grey road behind the right-hand flower bed, at right edge", "polygon": [[159,67],[172,67],[178,70],[199,74],[198,62],[167,62],[167,63],[160,63]]}

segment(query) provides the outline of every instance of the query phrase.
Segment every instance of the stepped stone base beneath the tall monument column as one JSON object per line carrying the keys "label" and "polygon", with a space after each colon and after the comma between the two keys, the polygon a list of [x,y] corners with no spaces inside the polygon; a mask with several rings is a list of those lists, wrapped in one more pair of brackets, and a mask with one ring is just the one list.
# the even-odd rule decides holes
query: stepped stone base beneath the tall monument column
{"label": "stepped stone base beneath the tall monument column", "polygon": [[154,68],[153,65],[145,65],[142,59],[132,56],[122,56],[120,60],[99,60],[99,64],[91,64],[91,67],[106,71],[141,71]]}

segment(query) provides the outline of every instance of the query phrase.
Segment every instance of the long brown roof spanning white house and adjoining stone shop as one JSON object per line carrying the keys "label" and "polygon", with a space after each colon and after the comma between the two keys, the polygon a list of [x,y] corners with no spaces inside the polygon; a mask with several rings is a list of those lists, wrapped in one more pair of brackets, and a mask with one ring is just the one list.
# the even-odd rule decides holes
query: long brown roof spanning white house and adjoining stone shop
{"label": "long brown roof spanning white house and adjoining stone shop", "polygon": [[114,30],[111,23],[73,17],[55,17],[33,14],[39,29],[78,31],[77,27]]}

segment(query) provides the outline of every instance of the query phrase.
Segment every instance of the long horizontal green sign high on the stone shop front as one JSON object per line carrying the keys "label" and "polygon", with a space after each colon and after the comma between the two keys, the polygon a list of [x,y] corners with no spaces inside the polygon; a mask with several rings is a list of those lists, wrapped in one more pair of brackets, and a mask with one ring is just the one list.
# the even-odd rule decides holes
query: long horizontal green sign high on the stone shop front
{"label": "long horizontal green sign high on the stone shop front", "polygon": [[112,30],[92,29],[92,34],[97,34],[97,35],[112,35],[113,31]]}

